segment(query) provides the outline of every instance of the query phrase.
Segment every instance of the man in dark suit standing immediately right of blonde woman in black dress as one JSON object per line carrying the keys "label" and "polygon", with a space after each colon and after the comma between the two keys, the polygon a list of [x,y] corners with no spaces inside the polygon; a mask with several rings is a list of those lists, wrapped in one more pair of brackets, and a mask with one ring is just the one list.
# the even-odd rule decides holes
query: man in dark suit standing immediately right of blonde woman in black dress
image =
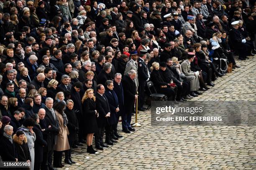
{"label": "man in dark suit standing immediately right of blonde woman in black dress", "polygon": [[[97,112],[99,113],[99,117],[97,117],[98,133],[95,136],[95,145],[96,145],[96,148],[99,150],[103,150],[103,148],[107,147],[107,145],[103,143],[104,127],[106,127],[105,128],[106,134],[107,133],[109,134],[109,129],[107,126],[108,124],[107,117],[110,117],[110,108],[108,105],[108,99],[104,95],[104,93],[105,93],[105,87],[102,84],[98,84],[97,93],[96,93],[96,108],[97,108]],[[110,140],[105,142],[108,145],[113,145],[113,143]]]}

